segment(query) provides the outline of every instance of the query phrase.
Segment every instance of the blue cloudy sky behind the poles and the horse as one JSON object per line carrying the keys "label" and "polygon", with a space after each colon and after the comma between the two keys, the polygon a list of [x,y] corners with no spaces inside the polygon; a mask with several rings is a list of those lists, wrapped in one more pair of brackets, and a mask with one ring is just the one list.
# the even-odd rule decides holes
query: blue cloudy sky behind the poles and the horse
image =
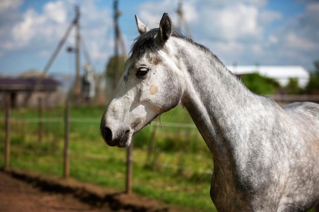
{"label": "blue cloudy sky behind the poles and the horse", "polygon": [[[119,26],[129,52],[139,35],[135,14],[150,28],[167,12],[178,25],[179,0],[119,0]],[[43,70],[80,8],[81,36],[96,72],[114,54],[113,1],[0,0],[0,75]],[[208,47],[225,65],[302,66],[319,60],[319,0],[184,0],[195,42]],[[181,28],[186,34],[187,29]],[[74,75],[74,29],[48,75]],[[86,63],[82,55],[81,65]]]}

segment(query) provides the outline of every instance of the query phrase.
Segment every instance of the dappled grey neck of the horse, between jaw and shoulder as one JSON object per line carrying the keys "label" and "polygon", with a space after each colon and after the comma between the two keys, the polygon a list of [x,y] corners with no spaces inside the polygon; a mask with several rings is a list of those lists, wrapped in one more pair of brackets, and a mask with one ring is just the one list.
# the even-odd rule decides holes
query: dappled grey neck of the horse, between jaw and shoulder
{"label": "dappled grey neck of the horse, between jaw and shoulder", "polygon": [[181,104],[189,111],[215,163],[226,164],[241,142],[241,131],[247,124],[245,113],[256,105],[258,97],[214,54],[196,45],[193,48],[186,50],[192,56],[183,57],[188,76]]}

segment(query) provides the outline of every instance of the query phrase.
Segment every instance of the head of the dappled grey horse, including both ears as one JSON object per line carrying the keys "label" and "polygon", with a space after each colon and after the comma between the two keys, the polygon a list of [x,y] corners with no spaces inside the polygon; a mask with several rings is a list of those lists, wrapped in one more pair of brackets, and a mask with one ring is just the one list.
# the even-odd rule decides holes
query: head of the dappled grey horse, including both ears
{"label": "head of the dappled grey horse, including both ears", "polygon": [[100,134],[110,146],[129,146],[134,134],[177,106],[182,96],[178,57],[170,44],[171,18],[165,13],[154,29],[137,16],[136,22],[141,35],[101,119]]}

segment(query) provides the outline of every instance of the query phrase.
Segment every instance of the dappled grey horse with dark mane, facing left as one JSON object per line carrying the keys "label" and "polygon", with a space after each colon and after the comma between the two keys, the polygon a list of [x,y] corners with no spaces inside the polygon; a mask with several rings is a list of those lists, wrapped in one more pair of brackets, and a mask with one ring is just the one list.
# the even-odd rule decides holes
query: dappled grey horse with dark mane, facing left
{"label": "dappled grey horse with dark mane, facing left", "polygon": [[319,105],[280,107],[252,93],[208,48],[137,16],[140,36],[100,123],[110,146],[127,147],[158,115],[188,110],[214,159],[218,211],[307,211],[319,204]]}

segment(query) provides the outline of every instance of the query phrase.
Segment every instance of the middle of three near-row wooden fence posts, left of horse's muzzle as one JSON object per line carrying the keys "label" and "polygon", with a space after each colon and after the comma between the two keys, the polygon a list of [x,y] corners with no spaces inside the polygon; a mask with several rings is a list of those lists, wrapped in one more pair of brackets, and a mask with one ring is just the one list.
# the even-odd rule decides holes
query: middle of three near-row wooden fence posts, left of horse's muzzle
{"label": "middle of three near-row wooden fence posts, left of horse's muzzle", "polygon": [[70,102],[66,99],[65,102],[65,113],[64,113],[64,169],[63,169],[63,176],[64,178],[69,177],[69,129],[70,129]]}

